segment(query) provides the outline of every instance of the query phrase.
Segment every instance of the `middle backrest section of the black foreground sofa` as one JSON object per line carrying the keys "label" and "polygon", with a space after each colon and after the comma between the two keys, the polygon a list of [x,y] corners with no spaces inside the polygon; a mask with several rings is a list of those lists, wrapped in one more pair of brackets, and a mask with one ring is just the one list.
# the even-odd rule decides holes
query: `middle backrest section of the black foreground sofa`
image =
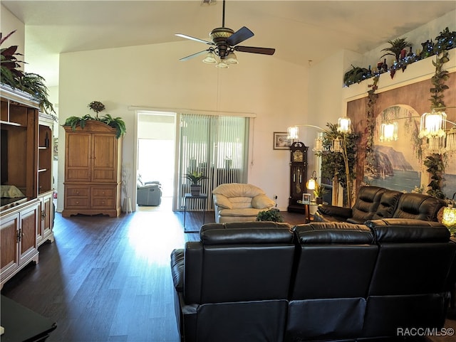
{"label": "middle backrest section of the black foreground sofa", "polygon": [[378,252],[366,225],[311,223],[294,232],[300,252],[292,300],[366,296]]}

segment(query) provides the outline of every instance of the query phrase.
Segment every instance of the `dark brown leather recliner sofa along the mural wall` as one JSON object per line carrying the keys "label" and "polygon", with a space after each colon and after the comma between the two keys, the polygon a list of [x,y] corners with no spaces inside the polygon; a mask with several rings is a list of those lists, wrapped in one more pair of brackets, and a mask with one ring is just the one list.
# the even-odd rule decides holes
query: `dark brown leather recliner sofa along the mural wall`
{"label": "dark brown leather recliner sofa along the mural wall", "polygon": [[364,223],[383,218],[437,221],[437,212],[444,205],[444,201],[420,193],[401,193],[378,186],[361,186],[353,208],[318,205],[314,222]]}

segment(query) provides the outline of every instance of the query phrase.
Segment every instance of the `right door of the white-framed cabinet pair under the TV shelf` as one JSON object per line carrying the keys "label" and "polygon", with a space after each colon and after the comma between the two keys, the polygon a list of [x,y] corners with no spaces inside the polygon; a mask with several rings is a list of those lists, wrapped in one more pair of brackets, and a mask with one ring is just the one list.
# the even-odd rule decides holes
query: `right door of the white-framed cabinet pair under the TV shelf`
{"label": "right door of the white-framed cabinet pair under the TV shelf", "polygon": [[20,232],[21,240],[19,243],[19,264],[26,261],[30,255],[36,253],[36,230],[38,227],[39,203],[21,211]]}

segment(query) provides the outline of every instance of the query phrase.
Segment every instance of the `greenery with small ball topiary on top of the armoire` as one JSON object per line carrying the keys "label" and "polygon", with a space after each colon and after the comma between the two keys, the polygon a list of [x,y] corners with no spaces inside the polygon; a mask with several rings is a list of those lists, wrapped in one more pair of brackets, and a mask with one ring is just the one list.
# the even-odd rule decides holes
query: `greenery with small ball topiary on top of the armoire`
{"label": "greenery with small ball topiary on top of the armoire", "polygon": [[90,102],[87,107],[93,110],[96,113],[96,117],[92,117],[90,114],[86,114],[83,117],[68,117],[65,120],[65,123],[62,125],[70,126],[71,129],[76,130],[76,127],[80,126],[82,129],[86,126],[86,122],[90,120],[95,120],[99,122],[103,122],[103,124],[107,124],[110,127],[115,128],[116,133],[115,137],[120,138],[125,135],[127,129],[125,127],[125,122],[121,117],[112,117],[110,114],[105,114],[103,117],[98,117],[99,112],[103,112],[105,110],[105,105],[103,105],[100,101],[92,101]]}

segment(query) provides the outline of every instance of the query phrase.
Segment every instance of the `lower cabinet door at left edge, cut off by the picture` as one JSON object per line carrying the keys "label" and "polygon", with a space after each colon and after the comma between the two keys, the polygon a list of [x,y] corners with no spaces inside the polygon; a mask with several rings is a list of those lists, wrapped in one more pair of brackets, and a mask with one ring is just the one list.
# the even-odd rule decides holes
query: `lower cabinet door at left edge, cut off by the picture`
{"label": "lower cabinet door at left edge, cut off by the picture", "polygon": [[0,278],[14,272],[19,264],[17,241],[19,234],[19,213],[1,218],[0,227]]}

